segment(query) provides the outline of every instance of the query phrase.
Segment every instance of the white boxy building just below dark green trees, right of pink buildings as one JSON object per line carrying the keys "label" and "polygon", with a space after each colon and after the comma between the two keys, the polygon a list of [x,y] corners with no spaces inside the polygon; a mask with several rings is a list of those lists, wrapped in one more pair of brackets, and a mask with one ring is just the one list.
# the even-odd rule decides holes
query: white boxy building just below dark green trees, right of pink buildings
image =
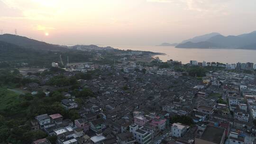
{"label": "white boxy building just below dark green trees, right of pink buildings", "polygon": [[189,126],[183,125],[181,123],[174,123],[172,125],[171,135],[175,137],[182,137],[188,128]]}

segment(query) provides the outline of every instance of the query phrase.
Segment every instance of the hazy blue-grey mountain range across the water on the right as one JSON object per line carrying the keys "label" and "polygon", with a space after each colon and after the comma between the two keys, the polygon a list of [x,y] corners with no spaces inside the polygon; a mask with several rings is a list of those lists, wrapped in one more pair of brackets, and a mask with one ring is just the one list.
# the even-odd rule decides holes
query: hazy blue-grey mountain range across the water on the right
{"label": "hazy blue-grey mountain range across the water on the right", "polygon": [[199,43],[186,42],[184,44],[179,44],[176,47],[177,48],[236,48],[236,49],[256,50],[256,31],[248,34],[238,35],[238,36],[215,35]]}

